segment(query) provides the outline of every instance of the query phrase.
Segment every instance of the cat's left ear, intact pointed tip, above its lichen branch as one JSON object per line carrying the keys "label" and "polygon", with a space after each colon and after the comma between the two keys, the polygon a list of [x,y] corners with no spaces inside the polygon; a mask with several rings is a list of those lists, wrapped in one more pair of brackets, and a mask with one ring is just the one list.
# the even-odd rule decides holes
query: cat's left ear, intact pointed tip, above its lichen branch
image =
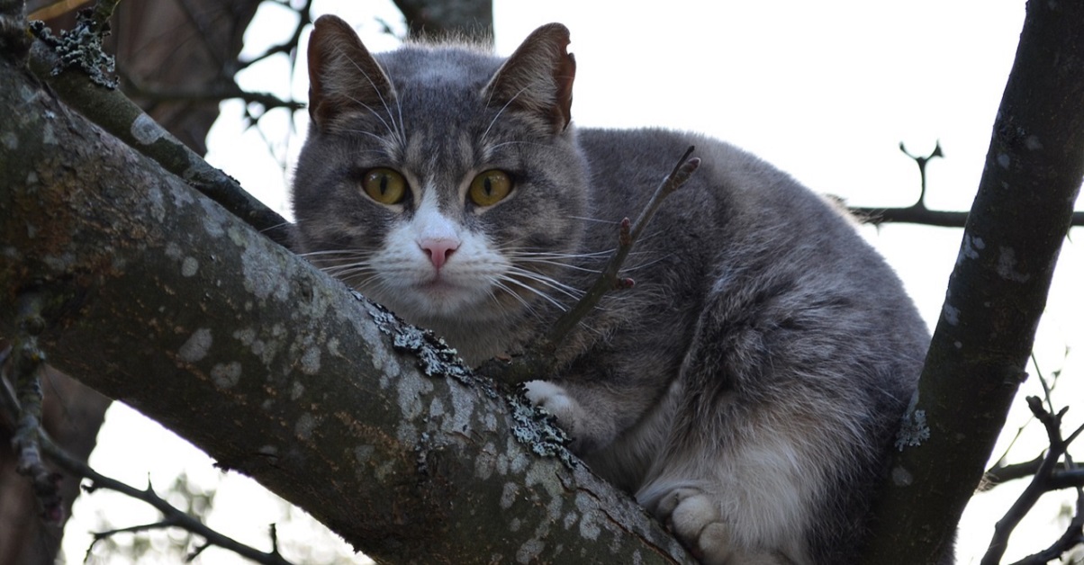
{"label": "cat's left ear, intact pointed tip, above its lichen branch", "polygon": [[390,111],[396,91],[349,24],[317,18],[309,37],[309,116],[321,130],[344,114]]}

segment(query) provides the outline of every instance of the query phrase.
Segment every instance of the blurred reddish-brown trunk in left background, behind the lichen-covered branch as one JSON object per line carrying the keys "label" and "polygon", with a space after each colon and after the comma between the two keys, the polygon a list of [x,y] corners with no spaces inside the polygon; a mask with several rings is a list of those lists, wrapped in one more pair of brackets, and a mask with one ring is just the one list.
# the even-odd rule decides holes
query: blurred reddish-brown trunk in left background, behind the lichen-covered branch
{"label": "blurred reddish-brown trunk in left background, behind the lichen-covered branch", "polygon": [[[34,12],[52,2],[27,2]],[[259,0],[222,2],[121,2],[113,17],[108,38],[117,67],[140,84],[165,91],[209,89],[236,71],[243,32]],[[75,24],[69,8],[47,23],[55,30]],[[144,109],[158,123],[182,139],[201,155],[204,139],[218,117],[216,101],[163,102],[144,98]],[[4,346],[0,339],[0,349]],[[50,371],[44,392],[43,425],[73,455],[86,459],[96,444],[106,397],[67,376]],[[60,551],[64,522],[46,524],[38,518],[30,483],[15,472],[10,449],[13,428],[0,420],[0,565],[52,563]],[[64,520],[79,495],[78,477],[64,474]]]}

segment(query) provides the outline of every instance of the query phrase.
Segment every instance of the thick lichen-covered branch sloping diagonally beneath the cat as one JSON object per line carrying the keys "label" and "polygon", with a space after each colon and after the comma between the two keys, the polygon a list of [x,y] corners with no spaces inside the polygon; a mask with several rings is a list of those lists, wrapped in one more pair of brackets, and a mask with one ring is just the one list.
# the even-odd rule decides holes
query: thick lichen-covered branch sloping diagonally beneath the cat
{"label": "thick lichen-covered branch sloping diagonally beneath the cat", "polygon": [[[521,398],[0,63],[0,334],[387,562],[688,562]],[[421,367],[421,368],[420,368]],[[431,375],[431,376],[426,376]],[[542,457],[537,452],[551,454]]]}

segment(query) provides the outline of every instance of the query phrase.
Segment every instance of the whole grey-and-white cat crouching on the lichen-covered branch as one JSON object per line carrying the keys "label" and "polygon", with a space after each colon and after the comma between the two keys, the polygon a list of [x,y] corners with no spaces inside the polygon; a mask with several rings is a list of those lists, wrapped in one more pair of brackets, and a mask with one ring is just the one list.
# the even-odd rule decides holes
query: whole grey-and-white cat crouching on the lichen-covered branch
{"label": "whole grey-and-white cat crouching on the lichen-covered branch", "polygon": [[318,19],[297,247],[478,365],[545,334],[695,145],[702,165],[624,266],[635,285],[527,395],[705,563],[856,561],[926,325],[846,212],[766,162],[692,133],[577,129],[568,44],[550,24],[506,60],[374,56]]}

